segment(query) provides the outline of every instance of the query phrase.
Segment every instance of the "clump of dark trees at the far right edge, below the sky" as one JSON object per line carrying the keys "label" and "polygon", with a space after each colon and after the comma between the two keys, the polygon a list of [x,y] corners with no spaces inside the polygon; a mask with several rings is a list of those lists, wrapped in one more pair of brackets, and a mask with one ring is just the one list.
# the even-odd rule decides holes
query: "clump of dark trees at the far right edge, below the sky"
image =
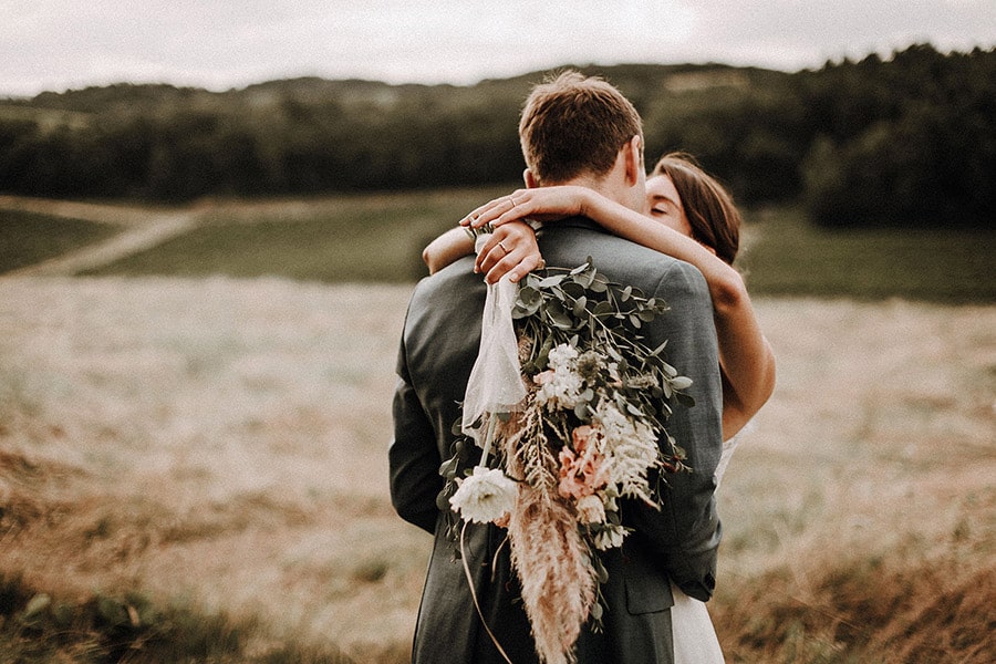
{"label": "clump of dark trees at the far right edge, below the sky", "polygon": [[805,83],[819,114],[802,163],[813,220],[992,228],[996,52],[911,46],[892,62],[843,62]]}

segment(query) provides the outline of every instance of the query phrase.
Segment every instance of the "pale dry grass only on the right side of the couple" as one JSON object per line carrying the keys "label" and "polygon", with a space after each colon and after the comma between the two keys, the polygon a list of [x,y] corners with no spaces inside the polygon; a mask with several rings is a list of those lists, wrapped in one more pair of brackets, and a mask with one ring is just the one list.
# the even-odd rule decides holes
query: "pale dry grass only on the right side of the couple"
{"label": "pale dry grass only on the right side of the couple", "polygon": [[996,661],[996,308],[760,314],[779,382],[720,490],[727,657]]}

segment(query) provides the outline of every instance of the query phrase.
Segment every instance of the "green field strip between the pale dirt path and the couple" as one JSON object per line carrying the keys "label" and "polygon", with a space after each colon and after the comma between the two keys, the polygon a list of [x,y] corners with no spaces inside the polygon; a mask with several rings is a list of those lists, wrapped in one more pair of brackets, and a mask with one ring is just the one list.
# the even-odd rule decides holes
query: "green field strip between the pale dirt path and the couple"
{"label": "green field strip between the pale dirt path and the couple", "polygon": [[412,282],[422,249],[502,189],[221,204],[191,232],[91,274],[288,277]]}

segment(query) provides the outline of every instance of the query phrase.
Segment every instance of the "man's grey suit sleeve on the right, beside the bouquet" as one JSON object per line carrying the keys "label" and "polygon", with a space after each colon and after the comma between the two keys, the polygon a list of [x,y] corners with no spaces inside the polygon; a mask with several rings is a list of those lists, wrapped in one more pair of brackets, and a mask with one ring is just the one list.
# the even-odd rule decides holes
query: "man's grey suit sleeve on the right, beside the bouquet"
{"label": "man's grey suit sleeve on the right, beside the bouquet", "polygon": [[706,601],[715,588],[720,527],[715,471],[723,448],[722,385],[713,307],[702,274],[675,262],[655,297],[670,310],[647,331],[653,345],[667,340],[667,362],[693,380],[693,407],[675,406],[667,432],[687,453],[689,473],[668,474],[662,508],[637,509],[637,537],[645,538],[668,575],[687,595]]}

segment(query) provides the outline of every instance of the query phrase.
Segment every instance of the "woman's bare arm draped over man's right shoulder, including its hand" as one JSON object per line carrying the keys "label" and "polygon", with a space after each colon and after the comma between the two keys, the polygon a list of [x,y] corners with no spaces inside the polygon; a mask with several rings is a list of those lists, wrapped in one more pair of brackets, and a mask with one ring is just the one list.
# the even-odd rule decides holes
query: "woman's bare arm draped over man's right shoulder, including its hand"
{"label": "woman's bare arm draped over man's right shoulder, including its hand", "polygon": [[[572,215],[593,219],[614,235],[689,262],[703,273],[713,299],[724,375],[723,437],[730,438],[775,388],[775,354],[758,324],[744,279],[732,266],[692,238],[587,187],[519,189],[476,209],[463,224],[492,224],[500,229],[527,217]],[[479,256],[478,266],[494,270],[489,258]]]}

